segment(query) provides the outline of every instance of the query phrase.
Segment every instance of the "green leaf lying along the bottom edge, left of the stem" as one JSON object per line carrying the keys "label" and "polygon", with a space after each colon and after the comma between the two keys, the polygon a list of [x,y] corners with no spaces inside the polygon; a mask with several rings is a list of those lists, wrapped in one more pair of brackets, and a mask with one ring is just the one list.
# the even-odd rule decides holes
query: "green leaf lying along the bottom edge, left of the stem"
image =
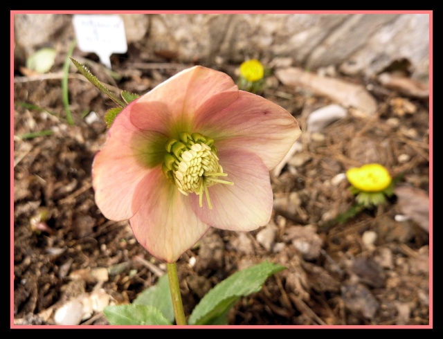
{"label": "green leaf lying along the bottom edge, left of the stem", "polygon": [[142,304],[107,306],[103,313],[111,325],[172,325],[159,309]]}

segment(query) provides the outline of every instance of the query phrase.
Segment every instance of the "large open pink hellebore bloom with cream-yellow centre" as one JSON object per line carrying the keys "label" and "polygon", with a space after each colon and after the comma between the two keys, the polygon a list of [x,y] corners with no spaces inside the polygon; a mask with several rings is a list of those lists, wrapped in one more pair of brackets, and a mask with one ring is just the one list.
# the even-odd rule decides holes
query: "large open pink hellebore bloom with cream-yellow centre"
{"label": "large open pink hellebore bloom with cream-yellow centre", "polygon": [[210,226],[269,222],[269,170],[300,133],[288,111],[225,73],[188,68],[118,114],[93,161],[96,203],[108,219],[129,219],[154,257],[176,262]]}

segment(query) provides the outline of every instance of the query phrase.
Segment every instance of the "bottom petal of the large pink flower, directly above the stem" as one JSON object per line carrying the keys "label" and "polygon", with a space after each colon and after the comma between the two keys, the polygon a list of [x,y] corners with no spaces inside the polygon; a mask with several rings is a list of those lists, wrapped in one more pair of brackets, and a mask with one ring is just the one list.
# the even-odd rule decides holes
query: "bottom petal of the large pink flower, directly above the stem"
{"label": "bottom petal of the large pink flower, directly above the stem", "polygon": [[210,227],[195,215],[190,197],[181,194],[161,169],[138,183],[134,200],[140,205],[129,219],[134,235],[154,257],[165,262],[177,262]]}

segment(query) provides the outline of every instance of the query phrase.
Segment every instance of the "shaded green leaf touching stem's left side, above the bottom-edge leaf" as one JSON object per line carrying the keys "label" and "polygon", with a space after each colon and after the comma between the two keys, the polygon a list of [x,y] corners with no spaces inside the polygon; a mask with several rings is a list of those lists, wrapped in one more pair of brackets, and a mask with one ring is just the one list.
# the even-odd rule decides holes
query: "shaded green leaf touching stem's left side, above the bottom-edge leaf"
{"label": "shaded green leaf touching stem's left side, above the bottom-edge leaf", "polygon": [[146,288],[145,291],[140,293],[132,303],[154,306],[163,313],[166,319],[170,322],[174,322],[174,306],[172,305],[167,274],[159,277],[159,281],[155,286]]}

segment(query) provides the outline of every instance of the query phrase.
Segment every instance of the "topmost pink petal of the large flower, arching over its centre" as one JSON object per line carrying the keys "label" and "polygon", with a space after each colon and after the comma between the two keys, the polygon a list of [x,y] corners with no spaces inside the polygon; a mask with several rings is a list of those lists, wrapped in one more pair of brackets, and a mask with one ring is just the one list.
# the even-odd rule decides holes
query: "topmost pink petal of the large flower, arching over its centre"
{"label": "topmost pink petal of the large flower, arching over its centre", "polygon": [[[170,77],[139,98],[134,112],[144,114],[134,114],[132,122],[141,129],[168,131],[168,135],[174,137],[182,131],[192,133],[191,123],[197,109],[223,92],[230,94],[215,102],[217,109],[225,108],[237,98],[237,85],[225,73],[194,66]],[[151,117],[154,122],[150,122]]]}

